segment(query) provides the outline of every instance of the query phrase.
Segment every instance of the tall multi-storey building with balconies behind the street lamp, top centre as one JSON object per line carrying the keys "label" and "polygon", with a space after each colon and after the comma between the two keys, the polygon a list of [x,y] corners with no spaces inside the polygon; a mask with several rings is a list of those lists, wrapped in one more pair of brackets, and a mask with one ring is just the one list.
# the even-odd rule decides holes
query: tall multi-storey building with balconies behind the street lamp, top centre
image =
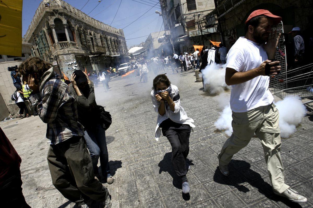
{"label": "tall multi-storey building with balconies behind the street lamp, top centre", "polygon": [[192,45],[209,45],[210,40],[220,41],[212,33],[201,34],[198,19],[215,8],[213,0],[161,0],[161,15],[165,30],[170,30],[175,52],[192,52]]}

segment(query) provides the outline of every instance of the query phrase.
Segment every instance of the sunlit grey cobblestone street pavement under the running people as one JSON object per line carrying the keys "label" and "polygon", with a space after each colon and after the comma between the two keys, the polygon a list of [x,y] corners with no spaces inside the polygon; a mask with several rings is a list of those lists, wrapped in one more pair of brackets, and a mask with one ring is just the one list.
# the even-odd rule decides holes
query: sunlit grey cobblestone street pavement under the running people
{"label": "sunlit grey cobblestone street pavement under the running people", "polygon": [[[172,75],[172,84],[180,90],[182,106],[195,120],[190,137],[191,170],[188,172],[190,198],[183,197],[181,183],[171,164],[171,146],[167,138],[154,139],[156,113],[150,92],[151,81],[139,83],[129,75],[112,80],[110,91],[96,88],[98,104],[106,106],[113,123],[106,132],[113,137],[108,144],[110,168],[116,181],[106,186],[112,195],[112,207],[312,207],[313,206],[313,113],[303,118],[297,132],[282,140],[281,156],[285,181],[308,198],[300,205],[274,196],[261,144],[253,138],[233,157],[231,175],[217,170],[217,153],[227,136],[216,131],[219,117],[217,97],[203,93],[195,82],[193,70]],[[153,75],[150,74],[151,78]],[[228,92],[229,94],[229,92]],[[52,185],[47,165],[46,124],[37,117],[1,122],[13,146],[22,157],[23,194],[32,207],[73,207]],[[27,132],[27,133],[24,133]],[[100,164],[99,164],[100,165]]]}

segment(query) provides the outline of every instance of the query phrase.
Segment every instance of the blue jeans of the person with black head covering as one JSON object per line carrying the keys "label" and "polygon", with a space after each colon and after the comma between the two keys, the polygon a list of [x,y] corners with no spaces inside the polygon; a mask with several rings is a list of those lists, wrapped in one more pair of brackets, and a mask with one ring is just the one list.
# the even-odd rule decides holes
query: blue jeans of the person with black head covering
{"label": "blue jeans of the person with black head covering", "polygon": [[[100,124],[97,124],[91,128],[86,128],[84,138],[86,140],[87,148],[90,152],[95,175],[99,174],[97,165],[98,159],[100,157],[102,175],[110,177],[111,173],[109,167],[109,154],[108,148],[106,147],[104,128]],[[107,175],[105,175],[105,173]]]}

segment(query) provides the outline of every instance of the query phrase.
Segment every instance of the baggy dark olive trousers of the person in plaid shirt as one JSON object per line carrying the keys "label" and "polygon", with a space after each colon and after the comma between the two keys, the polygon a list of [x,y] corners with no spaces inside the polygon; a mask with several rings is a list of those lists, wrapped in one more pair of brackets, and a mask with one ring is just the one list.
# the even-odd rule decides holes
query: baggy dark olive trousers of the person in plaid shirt
{"label": "baggy dark olive trousers of the person in plaid shirt", "polygon": [[47,159],[52,183],[65,198],[77,206],[89,199],[105,202],[109,191],[95,179],[83,137],[72,137],[50,145]]}

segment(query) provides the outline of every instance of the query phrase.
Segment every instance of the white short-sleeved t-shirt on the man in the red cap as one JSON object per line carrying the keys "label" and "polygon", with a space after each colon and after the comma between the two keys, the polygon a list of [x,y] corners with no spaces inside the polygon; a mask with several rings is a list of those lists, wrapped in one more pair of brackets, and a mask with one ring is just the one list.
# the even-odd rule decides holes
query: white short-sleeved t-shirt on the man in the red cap
{"label": "white short-sleeved t-shirt on the man in the red cap", "polygon": [[[239,72],[257,68],[268,59],[263,45],[239,37],[227,54],[227,68]],[[232,85],[230,108],[234,112],[247,112],[273,102],[269,92],[269,76],[257,76],[247,82]]]}

